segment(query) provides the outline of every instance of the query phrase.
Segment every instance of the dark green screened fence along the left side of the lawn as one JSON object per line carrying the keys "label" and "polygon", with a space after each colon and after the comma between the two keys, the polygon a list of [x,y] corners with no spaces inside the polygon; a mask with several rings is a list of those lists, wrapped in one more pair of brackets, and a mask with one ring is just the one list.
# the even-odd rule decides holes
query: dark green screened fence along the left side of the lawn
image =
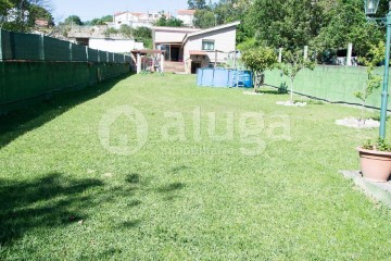
{"label": "dark green screened fence along the left side of the lawn", "polygon": [[0,29],[0,115],[130,71],[131,58]]}

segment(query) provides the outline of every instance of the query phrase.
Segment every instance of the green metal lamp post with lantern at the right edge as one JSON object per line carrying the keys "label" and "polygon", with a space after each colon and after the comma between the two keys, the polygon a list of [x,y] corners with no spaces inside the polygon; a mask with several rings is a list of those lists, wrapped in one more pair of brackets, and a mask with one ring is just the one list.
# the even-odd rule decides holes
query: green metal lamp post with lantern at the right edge
{"label": "green metal lamp post with lantern at the right edge", "polygon": [[[380,0],[364,0],[365,14],[376,14],[379,8]],[[387,121],[387,105],[388,105],[388,84],[389,84],[389,67],[390,67],[390,42],[391,42],[391,2],[389,4],[389,12],[386,17],[380,18],[386,22],[386,59],[384,59],[384,75],[383,86],[381,91],[381,107],[380,107],[380,138],[386,138],[386,121]]]}

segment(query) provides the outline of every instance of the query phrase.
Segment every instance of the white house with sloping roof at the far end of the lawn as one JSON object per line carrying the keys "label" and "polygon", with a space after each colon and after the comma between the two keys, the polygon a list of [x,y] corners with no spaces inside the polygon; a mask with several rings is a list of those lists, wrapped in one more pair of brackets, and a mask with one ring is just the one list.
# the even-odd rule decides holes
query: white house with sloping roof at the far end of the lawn
{"label": "white house with sloping roof at the far end of the lawn", "polygon": [[207,29],[152,27],[153,48],[165,51],[166,67],[195,73],[197,69],[227,62],[236,52],[236,28],[240,22]]}

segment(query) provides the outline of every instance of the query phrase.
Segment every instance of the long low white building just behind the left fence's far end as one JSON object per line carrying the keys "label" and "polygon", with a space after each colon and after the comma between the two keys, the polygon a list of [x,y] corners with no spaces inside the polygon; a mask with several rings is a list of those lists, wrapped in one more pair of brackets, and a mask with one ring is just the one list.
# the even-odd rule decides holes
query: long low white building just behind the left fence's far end
{"label": "long low white building just behind the left fence's far end", "polygon": [[137,42],[133,39],[98,39],[98,38],[90,38],[89,39],[89,48],[99,49],[102,51],[109,52],[130,52],[133,50],[142,50],[144,49],[142,42]]}

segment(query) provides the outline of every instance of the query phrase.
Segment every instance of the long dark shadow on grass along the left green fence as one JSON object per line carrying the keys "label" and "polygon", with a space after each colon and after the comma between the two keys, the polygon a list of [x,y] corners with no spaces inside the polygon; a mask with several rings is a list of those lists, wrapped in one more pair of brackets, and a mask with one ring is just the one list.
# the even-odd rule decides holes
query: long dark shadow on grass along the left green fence
{"label": "long dark shadow on grass along the left green fence", "polygon": [[50,100],[0,116],[0,149],[23,134],[52,121],[72,108],[103,95],[128,76],[129,74],[109,79],[83,90],[60,92]]}

